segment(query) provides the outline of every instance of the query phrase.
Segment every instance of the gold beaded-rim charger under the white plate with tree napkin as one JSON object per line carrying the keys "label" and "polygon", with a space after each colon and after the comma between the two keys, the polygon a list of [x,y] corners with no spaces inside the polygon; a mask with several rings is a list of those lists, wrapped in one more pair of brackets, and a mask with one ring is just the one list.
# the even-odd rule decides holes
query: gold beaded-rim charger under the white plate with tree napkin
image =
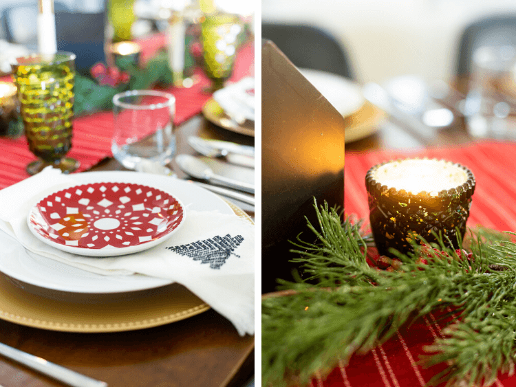
{"label": "gold beaded-rim charger under the white plate with tree napkin", "polygon": [[[233,203],[239,217],[251,221]],[[252,221],[251,221],[252,222]],[[0,275],[0,319],[51,331],[105,333],[158,327],[210,309],[186,287],[173,283],[156,289],[54,300],[25,291],[21,283]]]}

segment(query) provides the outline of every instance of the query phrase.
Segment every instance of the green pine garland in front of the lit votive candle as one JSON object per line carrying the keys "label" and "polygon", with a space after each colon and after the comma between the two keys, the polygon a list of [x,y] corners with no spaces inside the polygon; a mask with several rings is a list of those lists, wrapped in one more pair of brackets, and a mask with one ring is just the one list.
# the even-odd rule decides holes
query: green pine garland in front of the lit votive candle
{"label": "green pine garland in front of the lit votive candle", "polygon": [[[262,385],[304,384],[337,360],[366,353],[402,325],[451,307],[457,319],[422,359],[447,362],[430,384],[463,382],[490,386],[497,373],[512,374],[516,360],[516,234],[478,228],[453,251],[414,245],[388,270],[367,263],[370,241],[360,223],[341,221],[327,204],[318,208],[319,228],[308,222],[316,244],[298,237],[303,279],[279,280],[288,296],[262,300]],[[424,241],[423,241],[424,242]],[[370,257],[369,257],[370,258]],[[380,262],[376,262],[379,264]]]}

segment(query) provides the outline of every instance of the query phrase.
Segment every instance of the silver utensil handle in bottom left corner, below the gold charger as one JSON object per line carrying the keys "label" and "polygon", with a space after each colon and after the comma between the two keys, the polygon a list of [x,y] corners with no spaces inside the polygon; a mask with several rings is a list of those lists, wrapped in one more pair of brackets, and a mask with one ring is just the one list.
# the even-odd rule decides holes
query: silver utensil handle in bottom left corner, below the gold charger
{"label": "silver utensil handle in bottom left corner, below the gold charger", "polygon": [[12,348],[6,344],[0,343],[0,354],[8,357],[10,360],[19,362],[33,370],[39,371],[44,375],[50,376],[68,386],[72,387],[107,387],[107,383],[100,382],[100,380],[92,379],[75,371],[69,370],[57,364],[48,362],[41,357],[30,355],[20,351],[19,349]]}

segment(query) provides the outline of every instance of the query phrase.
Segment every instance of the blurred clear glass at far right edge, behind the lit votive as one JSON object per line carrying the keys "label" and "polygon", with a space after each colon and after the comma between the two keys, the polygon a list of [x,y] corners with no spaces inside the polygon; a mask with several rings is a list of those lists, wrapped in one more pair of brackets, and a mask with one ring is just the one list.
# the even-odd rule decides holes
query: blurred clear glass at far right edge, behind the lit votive
{"label": "blurred clear glass at far right edge, behind the lit votive", "polygon": [[472,65],[464,104],[469,134],[516,140],[516,47],[479,47]]}

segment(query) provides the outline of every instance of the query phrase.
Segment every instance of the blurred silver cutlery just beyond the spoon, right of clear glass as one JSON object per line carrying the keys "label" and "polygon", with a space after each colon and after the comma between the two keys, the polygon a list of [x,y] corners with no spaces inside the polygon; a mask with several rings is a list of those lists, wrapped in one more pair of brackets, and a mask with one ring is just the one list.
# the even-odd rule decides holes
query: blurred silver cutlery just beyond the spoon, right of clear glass
{"label": "blurred silver cutlery just beyond the spoon, right of clear glass", "polygon": [[192,148],[206,157],[226,157],[231,164],[255,168],[255,148],[234,144],[233,142],[204,140],[190,136],[188,142]]}

